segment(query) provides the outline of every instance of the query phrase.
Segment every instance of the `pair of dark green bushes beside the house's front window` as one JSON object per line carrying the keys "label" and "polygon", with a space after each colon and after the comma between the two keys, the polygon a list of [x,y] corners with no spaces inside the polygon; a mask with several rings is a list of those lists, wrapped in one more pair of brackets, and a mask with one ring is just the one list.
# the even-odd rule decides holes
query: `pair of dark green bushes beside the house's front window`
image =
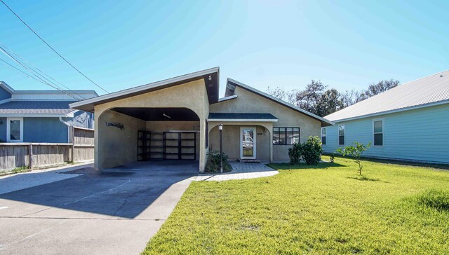
{"label": "pair of dark green bushes beside the house's front window", "polygon": [[309,137],[307,142],[302,144],[293,144],[292,148],[288,149],[288,157],[291,164],[299,163],[302,157],[307,165],[316,165],[320,162],[322,152],[321,140],[315,136]]}

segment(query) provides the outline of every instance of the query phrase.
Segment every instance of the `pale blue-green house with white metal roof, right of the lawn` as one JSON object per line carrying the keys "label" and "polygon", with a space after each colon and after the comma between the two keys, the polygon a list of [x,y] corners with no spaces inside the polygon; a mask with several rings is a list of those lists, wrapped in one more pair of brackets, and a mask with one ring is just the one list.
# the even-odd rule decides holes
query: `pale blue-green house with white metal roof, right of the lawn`
{"label": "pale blue-green house with white metal roof, right of the lawn", "polygon": [[354,142],[371,147],[363,156],[449,163],[449,71],[398,85],[324,118],[323,151]]}

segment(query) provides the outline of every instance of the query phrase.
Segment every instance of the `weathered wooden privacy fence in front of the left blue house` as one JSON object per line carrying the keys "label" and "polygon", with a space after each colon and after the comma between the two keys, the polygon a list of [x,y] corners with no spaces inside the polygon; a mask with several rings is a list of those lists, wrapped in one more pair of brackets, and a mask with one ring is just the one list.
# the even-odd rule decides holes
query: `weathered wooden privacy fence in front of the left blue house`
{"label": "weathered wooden privacy fence in front of the left blue house", "polygon": [[93,160],[94,131],[72,127],[71,143],[0,143],[0,170],[17,167],[47,167]]}

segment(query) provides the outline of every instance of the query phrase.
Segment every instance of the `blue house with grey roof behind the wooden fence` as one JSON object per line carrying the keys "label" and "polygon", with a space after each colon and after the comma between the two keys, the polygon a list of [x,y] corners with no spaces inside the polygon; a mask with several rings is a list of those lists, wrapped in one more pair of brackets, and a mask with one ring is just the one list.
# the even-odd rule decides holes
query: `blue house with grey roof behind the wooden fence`
{"label": "blue house with grey roof behind the wooden fence", "polygon": [[67,143],[72,125],[93,128],[93,113],[69,104],[92,97],[94,90],[14,90],[0,81],[0,142]]}

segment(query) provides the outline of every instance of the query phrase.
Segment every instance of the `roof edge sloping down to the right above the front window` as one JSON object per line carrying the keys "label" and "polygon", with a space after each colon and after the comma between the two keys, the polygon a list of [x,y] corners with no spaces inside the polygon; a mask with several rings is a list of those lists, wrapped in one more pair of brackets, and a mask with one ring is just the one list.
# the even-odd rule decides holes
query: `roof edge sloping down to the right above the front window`
{"label": "roof edge sloping down to the right above the front window", "polygon": [[257,95],[260,95],[261,97],[264,97],[264,98],[269,99],[269,100],[271,100],[271,101],[273,101],[273,102],[276,102],[276,103],[278,103],[278,104],[281,104],[282,106],[286,106],[287,108],[290,108],[290,109],[292,109],[292,110],[294,110],[294,111],[303,113],[303,114],[306,115],[306,116],[309,116],[309,117],[311,117],[311,118],[314,118],[314,119],[316,119],[316,120],[319,120],[319,121],[321,121],[321,125],[322,125],[322,126],[334,125],[334,123],[333,123],[332,121],[326,120],[326,118],[320,117],[320,116],[318,116],[318,115],[316,115],[316,114],[314,114],[314,113],[311,113],[311,112],[309,112],[309,111],[306,111],[306,110],[304,110],[304,109],[301,109],[300,107],[295,106],[295,105],[293,105],[293,104],[288,104],[288,102],[285,102],[285,101],[283,101],[283,100],[281,100],[281,99],[278,99],[278,98],[276,98],[276,97],[273,97],[272,95],[269,95],[269,94],[267,94],[267,93],[265,93],[265,92],[262,92],[262,91],[260,91],[260,90],[257,90],[257,89],[255,89],[255,88],[250,87],[249,85],[243,84],[243,83],[241,83],[241,82],[239,82],[239,81],[235,81],[235,80],[233,80],[232,78],[228,78],[228,79],[227,79],[227,85],[226,85],[225,97],[229,97],[229,96],[231,96],[231,95],[234,95],[234,90],[232,90],[232,87],[233,87],[233,86],[237,86],[237,87],[243,88],[243,89],[248,90],[248,91],[250,91],[250,92],[253,92],[253,93],[257,94]]}

